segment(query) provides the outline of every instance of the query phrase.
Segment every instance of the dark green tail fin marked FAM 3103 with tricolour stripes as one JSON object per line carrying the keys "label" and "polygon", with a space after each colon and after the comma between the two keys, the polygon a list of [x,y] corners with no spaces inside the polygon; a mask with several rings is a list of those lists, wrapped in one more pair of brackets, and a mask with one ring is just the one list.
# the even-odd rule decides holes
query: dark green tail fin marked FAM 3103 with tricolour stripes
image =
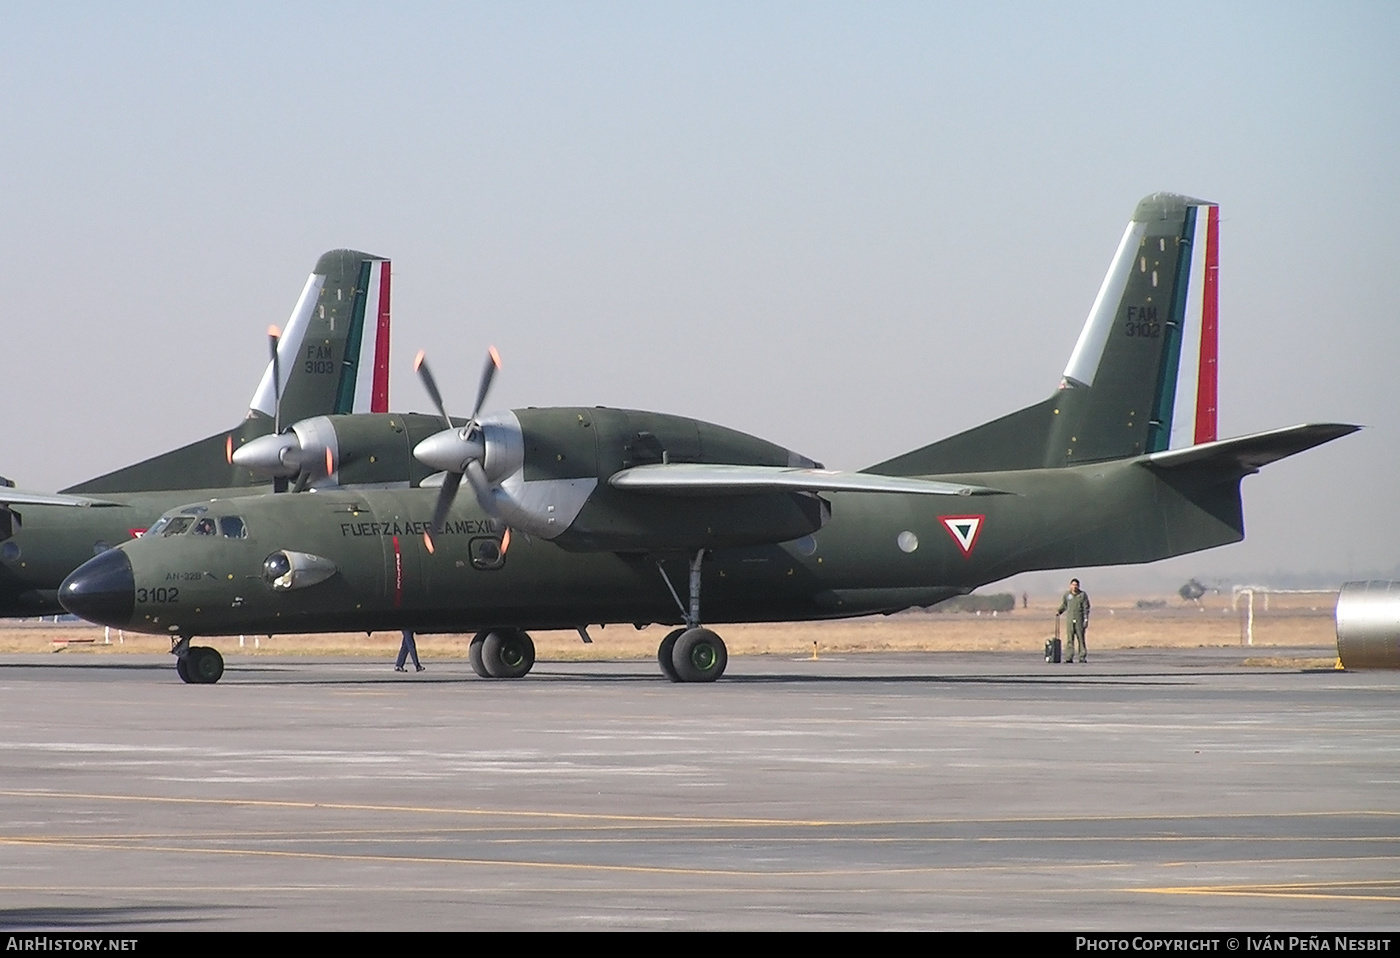
{"label": "dark green tail fin marked FAM 3103 with tricolour stripes", "polygon": [[[281,422],[389,410],[389,261],[333,249],[316,261],[277,343]],[[273,364],[253,392],[248,416],[144,462],[70,486],[69,493],[157,489],[234,489],[266,479],[232,465],[232,450],[273,429]]]}

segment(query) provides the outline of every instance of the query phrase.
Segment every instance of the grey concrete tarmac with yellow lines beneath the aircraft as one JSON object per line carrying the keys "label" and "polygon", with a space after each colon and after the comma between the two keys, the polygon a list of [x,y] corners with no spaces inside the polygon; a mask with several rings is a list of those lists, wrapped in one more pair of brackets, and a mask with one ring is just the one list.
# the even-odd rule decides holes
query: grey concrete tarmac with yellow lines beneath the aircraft
{"label": "grey concrete tarmac with yellow lines beneath the aircraft", "polygon": [[1246,654],[0,655],[0,927],[1396,929],[1400,674]]}

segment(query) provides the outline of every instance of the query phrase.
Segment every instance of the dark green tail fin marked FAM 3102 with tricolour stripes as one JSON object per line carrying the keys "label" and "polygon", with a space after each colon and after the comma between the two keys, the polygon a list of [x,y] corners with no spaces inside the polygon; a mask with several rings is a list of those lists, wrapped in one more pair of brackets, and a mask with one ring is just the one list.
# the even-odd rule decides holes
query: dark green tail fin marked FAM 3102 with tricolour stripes
{"label": "dark green tail fin marked FAM 3102 with tricolour stripes", "polygon": [[1144,197],[1049,399],[867,472],[1042,469],[1214,441],[1218,235],[1215,203]]}

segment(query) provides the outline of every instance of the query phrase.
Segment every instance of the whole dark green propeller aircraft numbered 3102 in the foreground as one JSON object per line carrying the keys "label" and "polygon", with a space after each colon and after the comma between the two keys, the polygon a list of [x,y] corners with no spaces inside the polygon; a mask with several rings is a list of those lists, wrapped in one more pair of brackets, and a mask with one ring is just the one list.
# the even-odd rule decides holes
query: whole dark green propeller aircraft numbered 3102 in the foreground
{"label": "whole dark green propeller aircraft numbered 3102 in the foreground", "polygon": [[465,423],[419,368],[445,429],[413,454],[441,471],[437,490],[185,506],[60,599],[169,634],[190,682],[223,674],[193,636],[476,632],[477,674],[518,678],[529,629],[587,640],[627,622],[676,625],[661,669],[706,682],[728,655],[703,622],[888,613],[1015,573],[1238,542],[1243,476],[1357,427],[1217,437],[1217,224],[1214,203],[1145,197],[1050,398],[861,472],[662,413],[480,416],[493,350]]}

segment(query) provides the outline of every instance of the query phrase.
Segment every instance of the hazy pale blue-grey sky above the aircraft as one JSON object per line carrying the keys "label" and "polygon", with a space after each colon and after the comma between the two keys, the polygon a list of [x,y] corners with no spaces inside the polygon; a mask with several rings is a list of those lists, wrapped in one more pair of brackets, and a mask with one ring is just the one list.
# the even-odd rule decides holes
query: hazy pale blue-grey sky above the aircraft
{"label": "hazy pale blue-grey sky above the aircraft", "polygon": [[22,487],[234,424],[335,247],[393,259],[395,409],[494,343],[493,408],[860,468],[1049,395],[1173,190],[1221,204],[1222,434],[1368,429],[1133,576],[1400,577],[1400,4],[209,7],[0,3]]}

